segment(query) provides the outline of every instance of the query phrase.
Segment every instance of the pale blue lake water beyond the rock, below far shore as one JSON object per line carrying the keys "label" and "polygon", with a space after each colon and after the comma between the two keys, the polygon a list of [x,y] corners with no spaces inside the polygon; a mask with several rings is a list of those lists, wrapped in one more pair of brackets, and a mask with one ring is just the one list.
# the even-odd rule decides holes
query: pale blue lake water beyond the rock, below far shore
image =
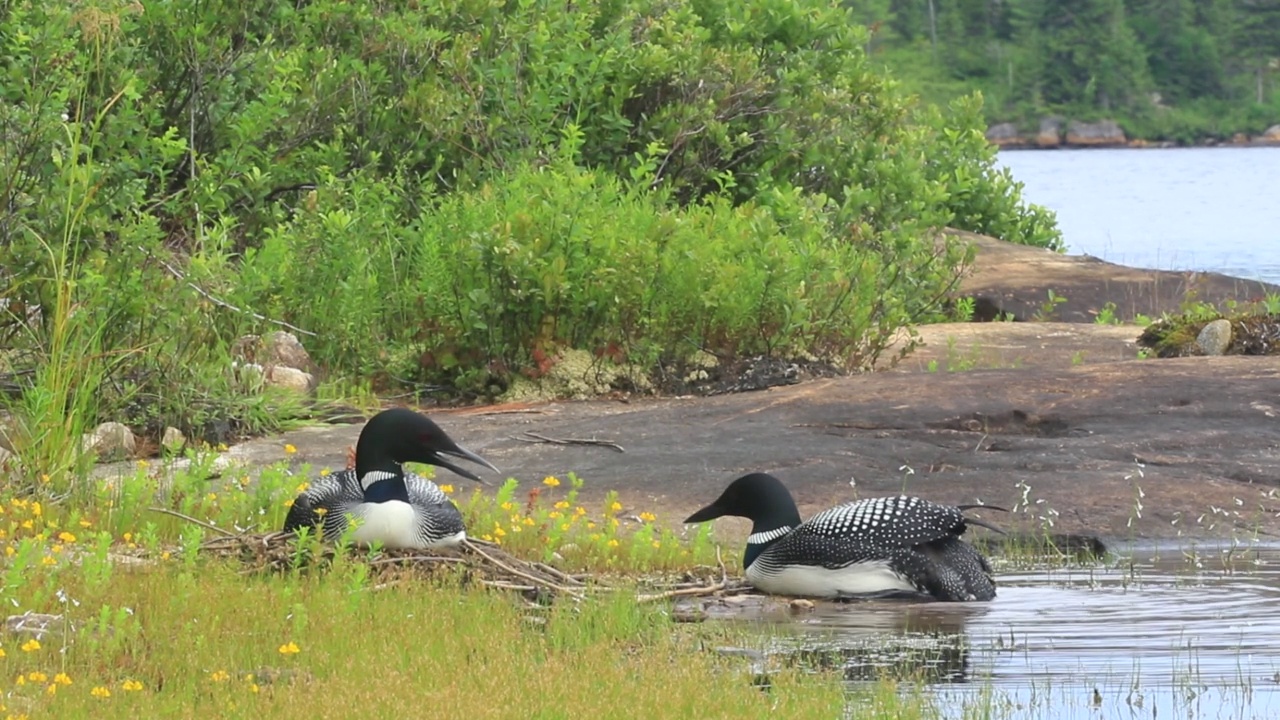
{"label": "pale blue lake water beyond the rock, below far shore", "polygon": [[1073,255],[1280,283],[1280,147],[1006,150]]}

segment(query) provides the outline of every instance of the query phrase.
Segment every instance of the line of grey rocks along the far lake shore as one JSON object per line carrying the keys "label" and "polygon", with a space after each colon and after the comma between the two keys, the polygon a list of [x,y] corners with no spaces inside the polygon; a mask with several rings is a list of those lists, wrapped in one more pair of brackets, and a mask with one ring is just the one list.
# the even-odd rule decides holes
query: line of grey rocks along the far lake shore
{"label": "line of grey rocks along the far lake shore", "polygon": [[[1002,150],[1052,150],[1059,147],[1175,147],[1175,142],[1129,138],[1115,120],[1085,123],[1064,118],[1043,118],[1034,132],[1018,123],[996,123],[987,128],[987,140]],[[1280,147],[1280,123],[1262,135],[1235,133],[1230,140],[1207,138],[1198,146]]]}

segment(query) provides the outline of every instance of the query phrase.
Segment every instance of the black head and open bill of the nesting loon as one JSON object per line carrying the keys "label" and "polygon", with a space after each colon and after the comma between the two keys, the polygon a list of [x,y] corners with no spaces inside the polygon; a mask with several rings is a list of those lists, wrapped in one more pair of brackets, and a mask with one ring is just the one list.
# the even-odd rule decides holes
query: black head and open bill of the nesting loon
{"label": "black head and open bill of the nesting loon", "polygon": [[494,473],[499,471],[484,457],[453,442],[425,415],[407,407],[393,407],[374,415],[360,432],[356,442],[356,477],[383,473],[403,480],[402,464],[424,462],[448,468],[463,478],[485,484],[480,475],[454,465],[445,456],[470,460]]}

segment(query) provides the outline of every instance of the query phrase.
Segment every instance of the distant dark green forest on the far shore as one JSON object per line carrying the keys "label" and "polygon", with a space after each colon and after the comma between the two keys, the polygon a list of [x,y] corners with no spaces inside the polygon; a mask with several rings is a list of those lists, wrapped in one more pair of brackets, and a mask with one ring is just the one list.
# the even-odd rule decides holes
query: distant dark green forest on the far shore
{"label": "distant dark green forest on the far shore", "polygon": [[980,90],[992,122],[1119,119],[1197,141],[1280,122],[1277,0],[846,0],[873,61],[934,101]]}

